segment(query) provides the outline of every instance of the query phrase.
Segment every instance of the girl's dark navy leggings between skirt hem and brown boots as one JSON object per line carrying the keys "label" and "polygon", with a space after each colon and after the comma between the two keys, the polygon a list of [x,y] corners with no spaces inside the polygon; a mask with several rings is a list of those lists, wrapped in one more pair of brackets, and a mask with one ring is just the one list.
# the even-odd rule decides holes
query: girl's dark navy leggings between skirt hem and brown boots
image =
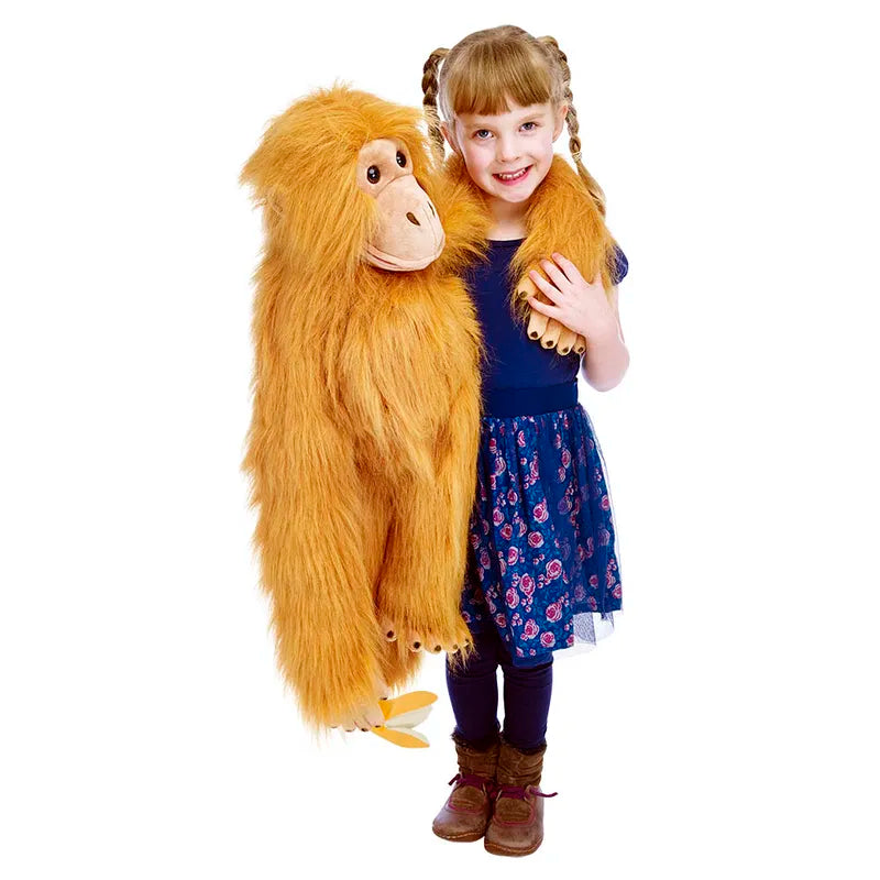
{"label": "girl's dark navy leggings between skirt hem and brown boots", "polygon": [[447,660],[447,688],[455,732],[476,748],[492,741],[498,724],[498,664],[504,674],[504,737],[515,748],[547,745],[547,715],[553,688],[552,658],[537,667],[515,667],[495,627],[472,634],[477,654],[459,674]]}

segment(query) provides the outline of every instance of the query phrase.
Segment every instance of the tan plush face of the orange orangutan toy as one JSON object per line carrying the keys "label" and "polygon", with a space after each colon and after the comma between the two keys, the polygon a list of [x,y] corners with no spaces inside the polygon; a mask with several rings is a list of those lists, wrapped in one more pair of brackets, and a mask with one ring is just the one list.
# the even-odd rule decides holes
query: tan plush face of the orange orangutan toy
{"label": "tan plush face of the orange orangutan toy", "polygon": [[358,156],[356,182],[376,200],[380,226],[366,244],[365,260],[392,272],[430,265],[443,251],[446,237],[427,193],[413,176],[403,143],[380,138]]}

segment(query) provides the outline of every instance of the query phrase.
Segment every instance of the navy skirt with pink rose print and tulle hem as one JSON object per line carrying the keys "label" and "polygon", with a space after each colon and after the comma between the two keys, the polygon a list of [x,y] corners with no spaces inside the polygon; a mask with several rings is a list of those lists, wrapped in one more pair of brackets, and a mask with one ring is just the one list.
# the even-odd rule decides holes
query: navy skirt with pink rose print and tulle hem
{"label": "navy skirt with pink rose print and tulle hem", "polygon": [[461,610],[495,626],[515,666],[614,627],[622,583],[612,497],[582,405],[484,417]]}

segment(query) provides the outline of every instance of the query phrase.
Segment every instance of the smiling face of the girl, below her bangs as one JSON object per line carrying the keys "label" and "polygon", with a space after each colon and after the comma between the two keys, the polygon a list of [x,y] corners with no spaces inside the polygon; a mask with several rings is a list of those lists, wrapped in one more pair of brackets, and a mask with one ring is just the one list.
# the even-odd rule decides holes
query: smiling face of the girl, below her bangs
{"label": "smiling face of the girl, below her bangs", "polygon": [[[520,107],[508,99],[508,113],[455,117],[454,130],[441,129],[464,160],[471,179],[501,201],[527,202],[553,160],[553,142],[564,124],[568,106],[553,112],[550,101]],[[524,205],[525,207],[525,205]]]}

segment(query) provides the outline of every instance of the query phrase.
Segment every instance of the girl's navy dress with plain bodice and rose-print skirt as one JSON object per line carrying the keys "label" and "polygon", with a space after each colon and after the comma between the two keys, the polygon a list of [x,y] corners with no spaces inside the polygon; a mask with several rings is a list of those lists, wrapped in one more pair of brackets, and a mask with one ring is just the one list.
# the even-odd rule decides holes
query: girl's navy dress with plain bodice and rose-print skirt
{"label": "girl's navy dress with plain bodice and rose-print skirt", "polygon": [[[521,242],[491,241],[464,278],[488,356],[461,612],[473,634],[496,627],[514,664],[530,667],[595,645],[623,596],[605,463],[578,403],[581,356],[529,340],[509,310]],[[618,250],[617,282],[627,270]]]}

